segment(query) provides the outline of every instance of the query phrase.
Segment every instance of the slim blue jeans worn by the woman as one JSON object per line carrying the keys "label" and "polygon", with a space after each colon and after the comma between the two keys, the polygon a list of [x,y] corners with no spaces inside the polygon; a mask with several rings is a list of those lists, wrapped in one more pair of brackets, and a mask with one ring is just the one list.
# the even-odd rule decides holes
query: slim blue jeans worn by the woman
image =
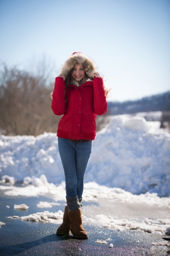
{"label": "slim blue jeans worn by the woman", "polygon": [[72,142],[58,138],[58,148],[64,168],[66,196],[78,195],[80,199],[84,189],[84,174],[92,152],[92,141]]}

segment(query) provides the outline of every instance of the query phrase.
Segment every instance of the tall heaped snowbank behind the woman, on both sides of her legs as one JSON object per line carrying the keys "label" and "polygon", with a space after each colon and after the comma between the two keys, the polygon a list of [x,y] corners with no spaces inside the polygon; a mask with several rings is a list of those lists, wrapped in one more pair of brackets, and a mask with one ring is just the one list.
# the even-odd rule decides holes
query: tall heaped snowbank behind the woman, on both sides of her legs
{"label": "tall heaped snowbank behind the woman, on both sides of her legs", "polygon": [[[139,116],[112,117],[93,141],[85,183],[95,181],[133,194],[170,196],[170,135],[153,124]],[[37,193],[44,186],[44,193],[52,194],[54,184],[47,186],[47,180],[38,179],[41,174],[50,183],[64,181],[56,134],[0,136],[1,183],[14,184],[9,178],[14,177],[24,180],[25,186],[32,184]]]}

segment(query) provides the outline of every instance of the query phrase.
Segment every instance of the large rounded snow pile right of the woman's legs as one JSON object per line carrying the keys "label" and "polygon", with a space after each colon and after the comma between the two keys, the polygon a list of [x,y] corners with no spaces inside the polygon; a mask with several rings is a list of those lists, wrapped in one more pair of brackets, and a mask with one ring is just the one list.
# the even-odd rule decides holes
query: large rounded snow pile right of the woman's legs
{"label": "large rounded snow pile right of the woman's legs", "polygon": [[170,135],[142,117],[113,117],[96,137],[85,181],[169,196]]}

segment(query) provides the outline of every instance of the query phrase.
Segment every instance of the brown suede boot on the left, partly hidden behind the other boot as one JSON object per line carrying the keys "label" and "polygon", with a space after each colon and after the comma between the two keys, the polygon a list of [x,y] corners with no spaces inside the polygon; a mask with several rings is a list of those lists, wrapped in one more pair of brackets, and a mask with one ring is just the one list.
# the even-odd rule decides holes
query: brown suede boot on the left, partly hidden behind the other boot
{"label": "brown suede boot on the left, partly hidden behind the other boot", "polygon": [[65,206],[64,209],[64,215],[63,215],[63,222],[62,224],[59,226],[59,228],[57,229],[57,234],[61,234],[61,235],[69,235],[71,233],[71,223],[68,217],[68,209],[67,206]]}

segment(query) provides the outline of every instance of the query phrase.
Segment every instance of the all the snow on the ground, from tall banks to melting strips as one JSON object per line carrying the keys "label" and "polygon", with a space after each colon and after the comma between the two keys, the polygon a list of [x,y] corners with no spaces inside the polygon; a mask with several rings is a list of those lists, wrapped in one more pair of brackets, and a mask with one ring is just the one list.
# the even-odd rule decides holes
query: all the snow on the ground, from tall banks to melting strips
{"label": "all the snow on the ground, from tall banks to melting strips", "polygon": [[[141,116],[110,118],[109,124],[93,141],[83,200],[106,198],[169,209],[170,134],[159,127],[160,122],[146,122]],[[7,195],[48,195],[56,203],[65,201],[64,171],[56,134],[44,133],[37,137],[1,135],[0,176],[0,189]],[[23,182],[22,186],[15,185],[18,180]],[[7,181],[10,185],[4,186]],[[54,201],[51,204],[39,202],[37,207],[51,208],[52,205]],[[62,211],[44,211],[20,218],[61,223],[62,214]],[[84,214],[84,221],[117,230],[139,229],[161,234],[170,226],[170,219],[146,218],[139,222],[107,214],[93,218]]]}

